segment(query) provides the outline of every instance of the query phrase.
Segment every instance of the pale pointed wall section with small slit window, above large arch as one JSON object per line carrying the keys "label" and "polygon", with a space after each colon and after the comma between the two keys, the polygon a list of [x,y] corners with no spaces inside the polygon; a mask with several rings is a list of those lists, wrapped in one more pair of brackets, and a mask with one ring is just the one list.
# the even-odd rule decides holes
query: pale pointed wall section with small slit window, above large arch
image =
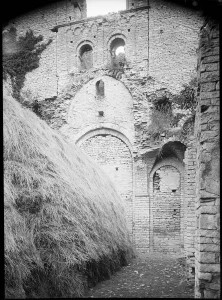
{"label": "pale pointed wall section with small slit window, above large arch", "polygon": [[[102,96],[97,95],[96,86],[99,82],[104,87]],[[85,84],[71,99],[67,123],[72,128],[73,139],[74,133],[77,135],[92,127],[103,126],[115,127],[133,144],[133,98],[120,81],[109,76],[98,76]]]}

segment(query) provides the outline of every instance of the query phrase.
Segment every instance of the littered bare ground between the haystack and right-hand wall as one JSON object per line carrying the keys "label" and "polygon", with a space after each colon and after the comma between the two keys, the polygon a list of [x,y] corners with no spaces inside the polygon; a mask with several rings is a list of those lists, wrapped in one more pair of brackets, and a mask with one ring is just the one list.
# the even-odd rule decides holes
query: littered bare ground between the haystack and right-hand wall
{"label": "littered bare ground between the haystack and right-hand wall", "polygon": [[194,284],[177,257],[152,254],[132,260],[84,298],[194,298]]}

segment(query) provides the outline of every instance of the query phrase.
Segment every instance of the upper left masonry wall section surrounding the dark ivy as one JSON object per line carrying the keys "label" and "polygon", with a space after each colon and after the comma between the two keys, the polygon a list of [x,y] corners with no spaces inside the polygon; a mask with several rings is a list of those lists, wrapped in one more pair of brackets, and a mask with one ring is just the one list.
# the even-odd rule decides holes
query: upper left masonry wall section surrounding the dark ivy
{"label": "upper left masonry wall section surrounding the dark ivy", "polygon": [[17,39],[19,36],[24,36],[28,30],[32,30],[34,35],[43,36],[43,42],[52,40],[41,54],[39,67],[26,75],[23,88],[23,92],[30,91],[39,100],[52,98],[58,94],[57,35],[51,29],[56,25],[86,17],[86,1],[78,0],[82,9],[81,15],[76,14],[74,2],[77,1],[55,1],[13,19],[4,28],[4,32],[7,32],[12,26],[15,27]]}

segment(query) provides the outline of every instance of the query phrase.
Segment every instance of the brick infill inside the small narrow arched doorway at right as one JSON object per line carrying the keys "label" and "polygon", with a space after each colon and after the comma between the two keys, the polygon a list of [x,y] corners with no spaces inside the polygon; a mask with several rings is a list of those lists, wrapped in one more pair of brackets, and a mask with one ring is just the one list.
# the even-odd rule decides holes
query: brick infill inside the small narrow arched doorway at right
{"label": "brick infill inside the small narrow arched doorway at right", "polygon": [[181,176],[164,165],[153,174],[153,251],[180,252]]}

